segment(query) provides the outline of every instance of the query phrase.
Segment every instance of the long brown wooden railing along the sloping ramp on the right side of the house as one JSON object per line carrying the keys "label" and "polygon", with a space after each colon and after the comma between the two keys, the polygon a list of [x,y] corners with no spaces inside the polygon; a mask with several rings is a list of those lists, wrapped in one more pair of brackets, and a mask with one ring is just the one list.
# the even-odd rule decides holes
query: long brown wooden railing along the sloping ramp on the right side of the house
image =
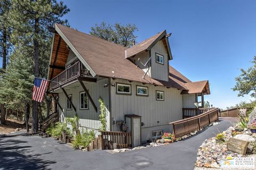
{"label": "long brown wooden railing along the sloping ramp on the right side of the house", "polygon": [[190,134],[197,130],[203,129],[205,126],[212,122],[219,120],[219,108],[210,109],[203,114],[185,118],[180,121],[175,121],[169,124],[173,125],[173,133],[176,138],[183,137],[184,135]]}

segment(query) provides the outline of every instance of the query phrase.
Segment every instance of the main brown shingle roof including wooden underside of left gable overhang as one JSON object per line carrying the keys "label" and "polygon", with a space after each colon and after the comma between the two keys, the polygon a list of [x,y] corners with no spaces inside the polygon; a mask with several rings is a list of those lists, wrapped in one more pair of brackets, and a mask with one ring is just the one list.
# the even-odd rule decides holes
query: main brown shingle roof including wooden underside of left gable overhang
{"label": "main brown shingle roof including wooden underside of left gable overhang", "polygon": [[[169,67],[169,81],[152,79],[148,75],[146,75],[143,79],[142,77],[145,72],[124,57],[125,50],[127,50],[127,48],[60,24],[55,24],[55,31],[56,33],[54,33],[50,61],[50,65],[52,66],[49,67],[50,79],[63,70],[63,67],[65,67],[66,64],[65,61],[67,61],[69,50],[72,50],[79,60],[86,66],[86,68],[90,70],[93,77],[101,76],[119,78],[129,81],[138,81],[142,83],[165,86],[168,88],[189,90],[186,84],[191,81],[177,70],[173,69],[171,66]],[[165,31],[158,33],[155,40],[159,39],[161,35],[165,36],[165,34]],[[56,56],[60,37],[61,42],[59,52]],[[149,44],[154,44],[155,40]],[[150,45],[147,45],[147,48],[149,48]],[[58,69],[53,70],[51,67]],[[51,77],[51,74],[54,76]]]}

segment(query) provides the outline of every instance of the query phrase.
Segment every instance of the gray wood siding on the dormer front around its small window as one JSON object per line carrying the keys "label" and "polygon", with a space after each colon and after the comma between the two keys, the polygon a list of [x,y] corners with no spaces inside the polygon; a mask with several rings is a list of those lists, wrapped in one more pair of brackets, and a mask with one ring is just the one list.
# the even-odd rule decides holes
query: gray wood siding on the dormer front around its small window
{"label": "gray wood siding on the dormer front around its small window", "polygon": [[[156,53],[164,56],[164,65],[156,63]],[[158,43],[151,48],[151,73],[152,78],[168,81],[169,79],[169,61],[168,53],[164,47],[163,41],[160,40]]]}

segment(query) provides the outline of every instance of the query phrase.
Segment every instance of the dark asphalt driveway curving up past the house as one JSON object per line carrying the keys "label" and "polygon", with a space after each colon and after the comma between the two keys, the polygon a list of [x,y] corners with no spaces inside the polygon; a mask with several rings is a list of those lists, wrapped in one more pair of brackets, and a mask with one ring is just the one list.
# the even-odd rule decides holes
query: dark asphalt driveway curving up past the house
{"label": "dark asphalt driveway curving up past the house", "polygon": [[224,118],[194,137],[166,146],[109,154],[83,152],[52,138],[20,133],[0,137],[0,169],[194,169],[202,142],[226,130],[234,118]]}

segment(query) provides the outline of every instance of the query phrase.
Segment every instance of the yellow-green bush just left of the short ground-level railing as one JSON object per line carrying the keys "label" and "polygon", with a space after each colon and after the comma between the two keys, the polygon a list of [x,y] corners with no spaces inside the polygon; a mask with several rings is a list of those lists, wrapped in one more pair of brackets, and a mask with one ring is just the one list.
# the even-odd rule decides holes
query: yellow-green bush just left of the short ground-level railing
{"label": "yellow-green bush just left of the short ground-level railing", "polygon": [[94,131],[84,131],[82,130],[82,133],[77,134],[74,137],[74,140],[72,142],[73,148],[77,149],[79,146],[88,147],[90,142],[94,140],[95,133]]}

